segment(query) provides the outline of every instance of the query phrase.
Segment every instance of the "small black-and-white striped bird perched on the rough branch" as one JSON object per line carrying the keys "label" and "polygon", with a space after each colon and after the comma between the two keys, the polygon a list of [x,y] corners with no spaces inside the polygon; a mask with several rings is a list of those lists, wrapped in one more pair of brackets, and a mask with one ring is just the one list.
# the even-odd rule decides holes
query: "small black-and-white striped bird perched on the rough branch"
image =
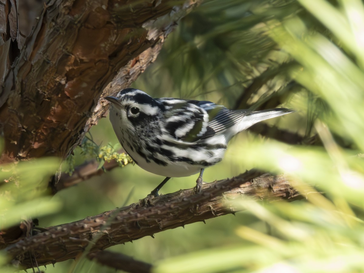
{"label": "small black-and-white striped bird perched on the rough branch", "polygon": [[294,112],[229,110],[209,101],[153,99],[134,88],[105,99],[111,102],[110,121],[125,151],[144,170],[166,177],[151,192],[154,196],[171,177],[198,172],[196,190],[201,191],[203,170],[222,160],[234,135],[254,123]]}

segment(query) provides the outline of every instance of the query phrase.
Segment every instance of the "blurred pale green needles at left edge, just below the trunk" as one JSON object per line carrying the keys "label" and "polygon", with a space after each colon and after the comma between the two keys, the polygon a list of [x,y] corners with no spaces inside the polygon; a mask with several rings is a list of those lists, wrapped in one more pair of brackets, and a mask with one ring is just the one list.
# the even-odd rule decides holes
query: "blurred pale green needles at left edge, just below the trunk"
{"label": "blurred pale green needles at left edge, just below the trunk", "polygon": [[[62,207],[58,198],[47,192],[48,179],[58,169],[59,159],[44,158],[17,164],[2,165],[0,169],[0,229],[18,225],[31,217],[54,214]],[[0,271],[13,272],[6,265],[5,253],[0,253]]]}

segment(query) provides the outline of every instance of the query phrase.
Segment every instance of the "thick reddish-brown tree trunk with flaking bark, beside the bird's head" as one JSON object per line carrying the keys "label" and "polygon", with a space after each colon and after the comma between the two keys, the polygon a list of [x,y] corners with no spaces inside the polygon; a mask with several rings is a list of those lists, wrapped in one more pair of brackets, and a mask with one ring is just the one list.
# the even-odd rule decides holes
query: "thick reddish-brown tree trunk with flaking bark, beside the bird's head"
{"label": "thick reddish-brown tree trunk with flaking bark, beside the bird's head", "polygon": [[[0,43],[0,163],[70,154],[105,114],[100,98],[129,86],[196,2],[48,1],[12,66],[5,57],[20,37],[10,28]],[[2,7],[5,31],[17,21],[16,1]]]}

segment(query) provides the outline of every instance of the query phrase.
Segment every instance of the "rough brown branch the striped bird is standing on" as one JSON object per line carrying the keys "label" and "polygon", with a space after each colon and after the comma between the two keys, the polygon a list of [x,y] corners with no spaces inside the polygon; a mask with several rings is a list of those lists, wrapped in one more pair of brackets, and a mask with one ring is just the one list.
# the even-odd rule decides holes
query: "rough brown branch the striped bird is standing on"
{"label": "rough brown branch the striped bird is standing on", "polygon": [[31,267],[32,258],[38,265],[47,265],[75,258],[86,248],[88,257],[92,258],[92,253],[113,245],[235,213],[240,208],[232,201],[242,196],[267,200],[302,198],[285,175],[251,170],[238,177],[205,184],[202,194],[194,194],[193,189],[180,190],[152,199],[150,206],[134,203],[80,221],[49,227],[46,232],[13,241],[6,250],[13,257],[12,262],[22,268]]}

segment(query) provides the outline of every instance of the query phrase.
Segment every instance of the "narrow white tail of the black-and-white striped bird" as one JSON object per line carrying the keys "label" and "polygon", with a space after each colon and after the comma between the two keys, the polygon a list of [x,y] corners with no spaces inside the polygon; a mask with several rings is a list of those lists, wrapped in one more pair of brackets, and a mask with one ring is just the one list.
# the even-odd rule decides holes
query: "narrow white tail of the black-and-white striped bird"
{"label": "narrow white tail of the black-and-white striped bird", "polygon": [[242,131],[262,120],[275,118],[277,116],[289,114],[295,111],[296,110],[287,108],[275,108],[275,109],[250,112],[243,118],[241,122],[241,128],[239,129],[240,131]]}

